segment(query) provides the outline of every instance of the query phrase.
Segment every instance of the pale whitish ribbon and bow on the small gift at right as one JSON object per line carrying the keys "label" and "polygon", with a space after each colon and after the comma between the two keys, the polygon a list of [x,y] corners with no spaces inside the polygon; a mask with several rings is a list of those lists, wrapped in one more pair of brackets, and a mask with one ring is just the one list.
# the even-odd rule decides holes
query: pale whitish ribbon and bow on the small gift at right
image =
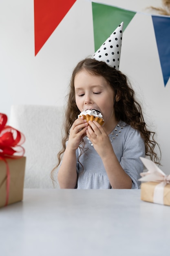
{"label": "pale whitish ribbon and bow on the small gift at right", "polygon": [[163,204],[163,190],[166,184],[170,184],[170,175],[163,173],[163,171],[161,171],[161,169],[159,169],[159,167],[151,160],[144,157],[140,157],[140,159],[148,171],[140,173],[142,177],[139,179],[139,181],[159,182],[154,189],[153,202]]}

